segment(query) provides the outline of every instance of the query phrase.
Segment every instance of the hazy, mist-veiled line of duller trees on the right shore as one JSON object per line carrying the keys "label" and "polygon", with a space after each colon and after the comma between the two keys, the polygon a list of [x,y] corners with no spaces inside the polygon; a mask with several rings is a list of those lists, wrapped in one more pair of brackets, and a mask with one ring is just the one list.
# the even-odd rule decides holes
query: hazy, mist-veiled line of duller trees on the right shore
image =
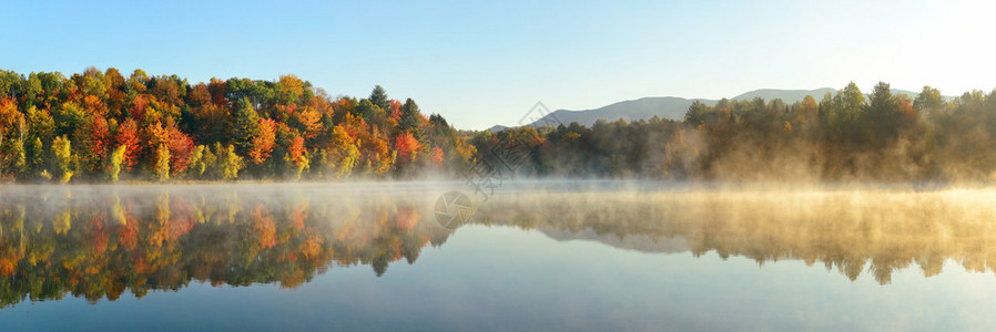
{"label": "hazy, mist-veiled line of duller trees on the right shore", "polygon": [[[822,98],[694,102],[682,121],[599,121],[480,132],[478,151],[525,145],[527,176],[733,181],[996,179],[996,91],[915,97],[852,82]],[[508,143],[514,142],[514,143]],[[487,159],[488,156],[484,155]]]}

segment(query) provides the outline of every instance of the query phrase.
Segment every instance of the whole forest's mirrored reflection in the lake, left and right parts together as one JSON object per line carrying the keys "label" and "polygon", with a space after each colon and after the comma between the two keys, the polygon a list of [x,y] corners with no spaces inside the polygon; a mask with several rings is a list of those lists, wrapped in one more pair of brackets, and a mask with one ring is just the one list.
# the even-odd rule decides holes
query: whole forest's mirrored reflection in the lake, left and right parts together
{"label": "whole forest's mirrored reflection in the lake, left and right parts together", "polygon": [[[191,281],[294,288],[335,266],[415,262],[453,232],[426,189],[322,186],[8,187],[0,191],[0,307],[92,302]],[[715,251],[822,263],[851,280],[954,260],[994,271],[990,191],[601,191],[499,195],[472,222],[648,252]]]}

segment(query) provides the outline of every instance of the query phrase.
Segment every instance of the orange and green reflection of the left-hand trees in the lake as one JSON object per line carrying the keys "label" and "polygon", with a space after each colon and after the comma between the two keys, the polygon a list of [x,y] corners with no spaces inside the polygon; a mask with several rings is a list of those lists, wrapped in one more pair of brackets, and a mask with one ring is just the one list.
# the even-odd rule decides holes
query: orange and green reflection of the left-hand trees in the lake
{"label": "orange and green reflection of the left-hand trees in the lake", "polygon": [[293,288],[332,263],[414,262],[448,230],[404,195],[316,187],[13,187],[0,195],[0,305],[91,302],[192,280]]}

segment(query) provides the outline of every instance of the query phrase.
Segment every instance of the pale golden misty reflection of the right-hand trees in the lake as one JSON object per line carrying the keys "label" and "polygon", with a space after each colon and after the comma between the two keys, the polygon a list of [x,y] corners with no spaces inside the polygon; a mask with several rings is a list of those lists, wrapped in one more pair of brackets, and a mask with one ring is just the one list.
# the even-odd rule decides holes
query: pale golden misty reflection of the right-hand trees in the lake
{"label": "pale golden misty reflection of the right-hand trees in the lake", "polygon": [[591,229],[612,246],[680,237],[695,256],[822,262],[852,281],[867,272],[886,284],[914,262],[925,277],[948,260],[996,272],[994,199],[990,190],[538,194],[495,199],[478,216],[492,225]]}

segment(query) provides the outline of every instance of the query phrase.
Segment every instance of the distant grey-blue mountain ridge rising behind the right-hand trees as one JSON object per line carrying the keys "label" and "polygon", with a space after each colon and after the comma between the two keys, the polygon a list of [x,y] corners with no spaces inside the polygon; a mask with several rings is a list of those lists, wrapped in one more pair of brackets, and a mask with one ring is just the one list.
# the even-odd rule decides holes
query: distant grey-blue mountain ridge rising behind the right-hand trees
{"label": "distant grey-blue mountain ridge rising behind the right-hand trees", "polygon": [[[765,101],[771,101],[774,98],[781,98],[786,104],[792,104],[795,102],[801,102],[805,98],[806,95],[812,95],[813,98],[819,103],[820,100],[823,98],[823,95],[830,92],[831,94],[836,93],[836,89],[831,87],[822,87],[815,90],[779,90],[779,89],[761,89],[754,90],[750,92],[742,93],[736,95],[730,100],[752,100],[754,97],[761,97]],[[905,94],[911,98],[915,98],[917,92],[904,91],[904,90],[892,90],[893,94]],[[949,97],[948,97],[949,98]],[[638,121],[638,120],[649,120],[653,116],[659,116],[661,118],[669,118],[674,121],[684,120],[684,113],[688,112],[688,107],[692,104],[692,102],[699,101],[707,105],[715,105],[718,101],[715,100],[704,100],[704,98],[682,98],[682,97],[644,97],[636,101],[624,101],[614,103],[608,106],[603,106],[594,110],[585,110],[585,111],[568,111],[568,110],[557,110],[551,113],[553,117],[557,118],[560,123],[568,125],[572,122],[577,122],[585,126],[591,126],[594,122],[599,120],[604,121],[616,121],[622,118],[623,121]],[[548,115],[547,117],[549,117]],[[543,118],[537,121],[530,126],[536,126],[537,123],[550,123],[549,118]],[[510,128],[509,126],[496,125],[494,127],[488,128],[491,132],[499,132]]]}

